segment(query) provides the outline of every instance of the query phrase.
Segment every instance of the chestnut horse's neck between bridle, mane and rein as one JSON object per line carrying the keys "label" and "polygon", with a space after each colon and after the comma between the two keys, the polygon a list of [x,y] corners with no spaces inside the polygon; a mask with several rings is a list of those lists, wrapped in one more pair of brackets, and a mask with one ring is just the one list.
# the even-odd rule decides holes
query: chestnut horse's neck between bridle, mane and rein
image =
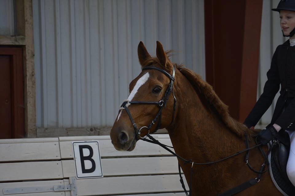
{"label": "chestnut horse's neck between bridle, mane and rein", "polygon": [[177,115],[174,125],[167,128],[175,152],[185,159],[208,162],[241,149],[242,140],[202,103],[180,72],[177,76],[174,85]]}

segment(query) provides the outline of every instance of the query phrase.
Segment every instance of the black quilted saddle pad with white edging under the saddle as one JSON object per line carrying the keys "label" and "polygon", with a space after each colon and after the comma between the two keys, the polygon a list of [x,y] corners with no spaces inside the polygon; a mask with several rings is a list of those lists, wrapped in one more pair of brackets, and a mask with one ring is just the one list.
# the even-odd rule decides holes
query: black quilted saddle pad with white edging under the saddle
{"label": "black quilted saddle pad with white edging under the saddle", "polygon": [[272,152],[269,153],[269,173],[273,184],[277,187],[277,189],[281,192],[281,194],[285,196],[294,196],[295,195],[295,187],[288,180],[283,178],[282,174],[277,168],[277,165],[274,161],[274,157],[272,156]]}

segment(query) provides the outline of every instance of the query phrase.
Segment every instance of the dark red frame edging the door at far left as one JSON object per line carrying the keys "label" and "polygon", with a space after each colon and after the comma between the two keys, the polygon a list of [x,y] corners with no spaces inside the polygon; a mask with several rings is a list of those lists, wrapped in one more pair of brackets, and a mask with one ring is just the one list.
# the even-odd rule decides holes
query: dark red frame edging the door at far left
{"label": "dark red frame edging the door at far left", "polygon": [[12,137],[23,138],[25,136],[25,131],[22,48],[0,46],[0,55],[10,56]]}

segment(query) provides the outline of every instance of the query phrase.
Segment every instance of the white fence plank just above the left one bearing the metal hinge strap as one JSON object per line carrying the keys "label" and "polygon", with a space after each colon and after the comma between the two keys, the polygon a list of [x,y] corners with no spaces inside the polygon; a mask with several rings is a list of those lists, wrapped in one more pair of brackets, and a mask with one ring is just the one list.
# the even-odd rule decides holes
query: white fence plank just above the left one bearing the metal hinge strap
{"label": "white fence plank just above the left one bearing the metal hinge strap", "polygon": [[0,182],[61,178],[61,161],[0,163]]}

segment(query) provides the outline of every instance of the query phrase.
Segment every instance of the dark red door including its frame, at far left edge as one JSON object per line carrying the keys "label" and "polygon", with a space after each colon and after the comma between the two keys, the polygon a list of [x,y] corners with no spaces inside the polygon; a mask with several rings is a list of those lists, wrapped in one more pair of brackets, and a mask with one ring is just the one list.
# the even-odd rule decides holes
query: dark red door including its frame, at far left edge
{"label": "dark red door including its frame, at far left edge", "polygon": [[0,47],[0,139],[24,137],[22,48]]}

